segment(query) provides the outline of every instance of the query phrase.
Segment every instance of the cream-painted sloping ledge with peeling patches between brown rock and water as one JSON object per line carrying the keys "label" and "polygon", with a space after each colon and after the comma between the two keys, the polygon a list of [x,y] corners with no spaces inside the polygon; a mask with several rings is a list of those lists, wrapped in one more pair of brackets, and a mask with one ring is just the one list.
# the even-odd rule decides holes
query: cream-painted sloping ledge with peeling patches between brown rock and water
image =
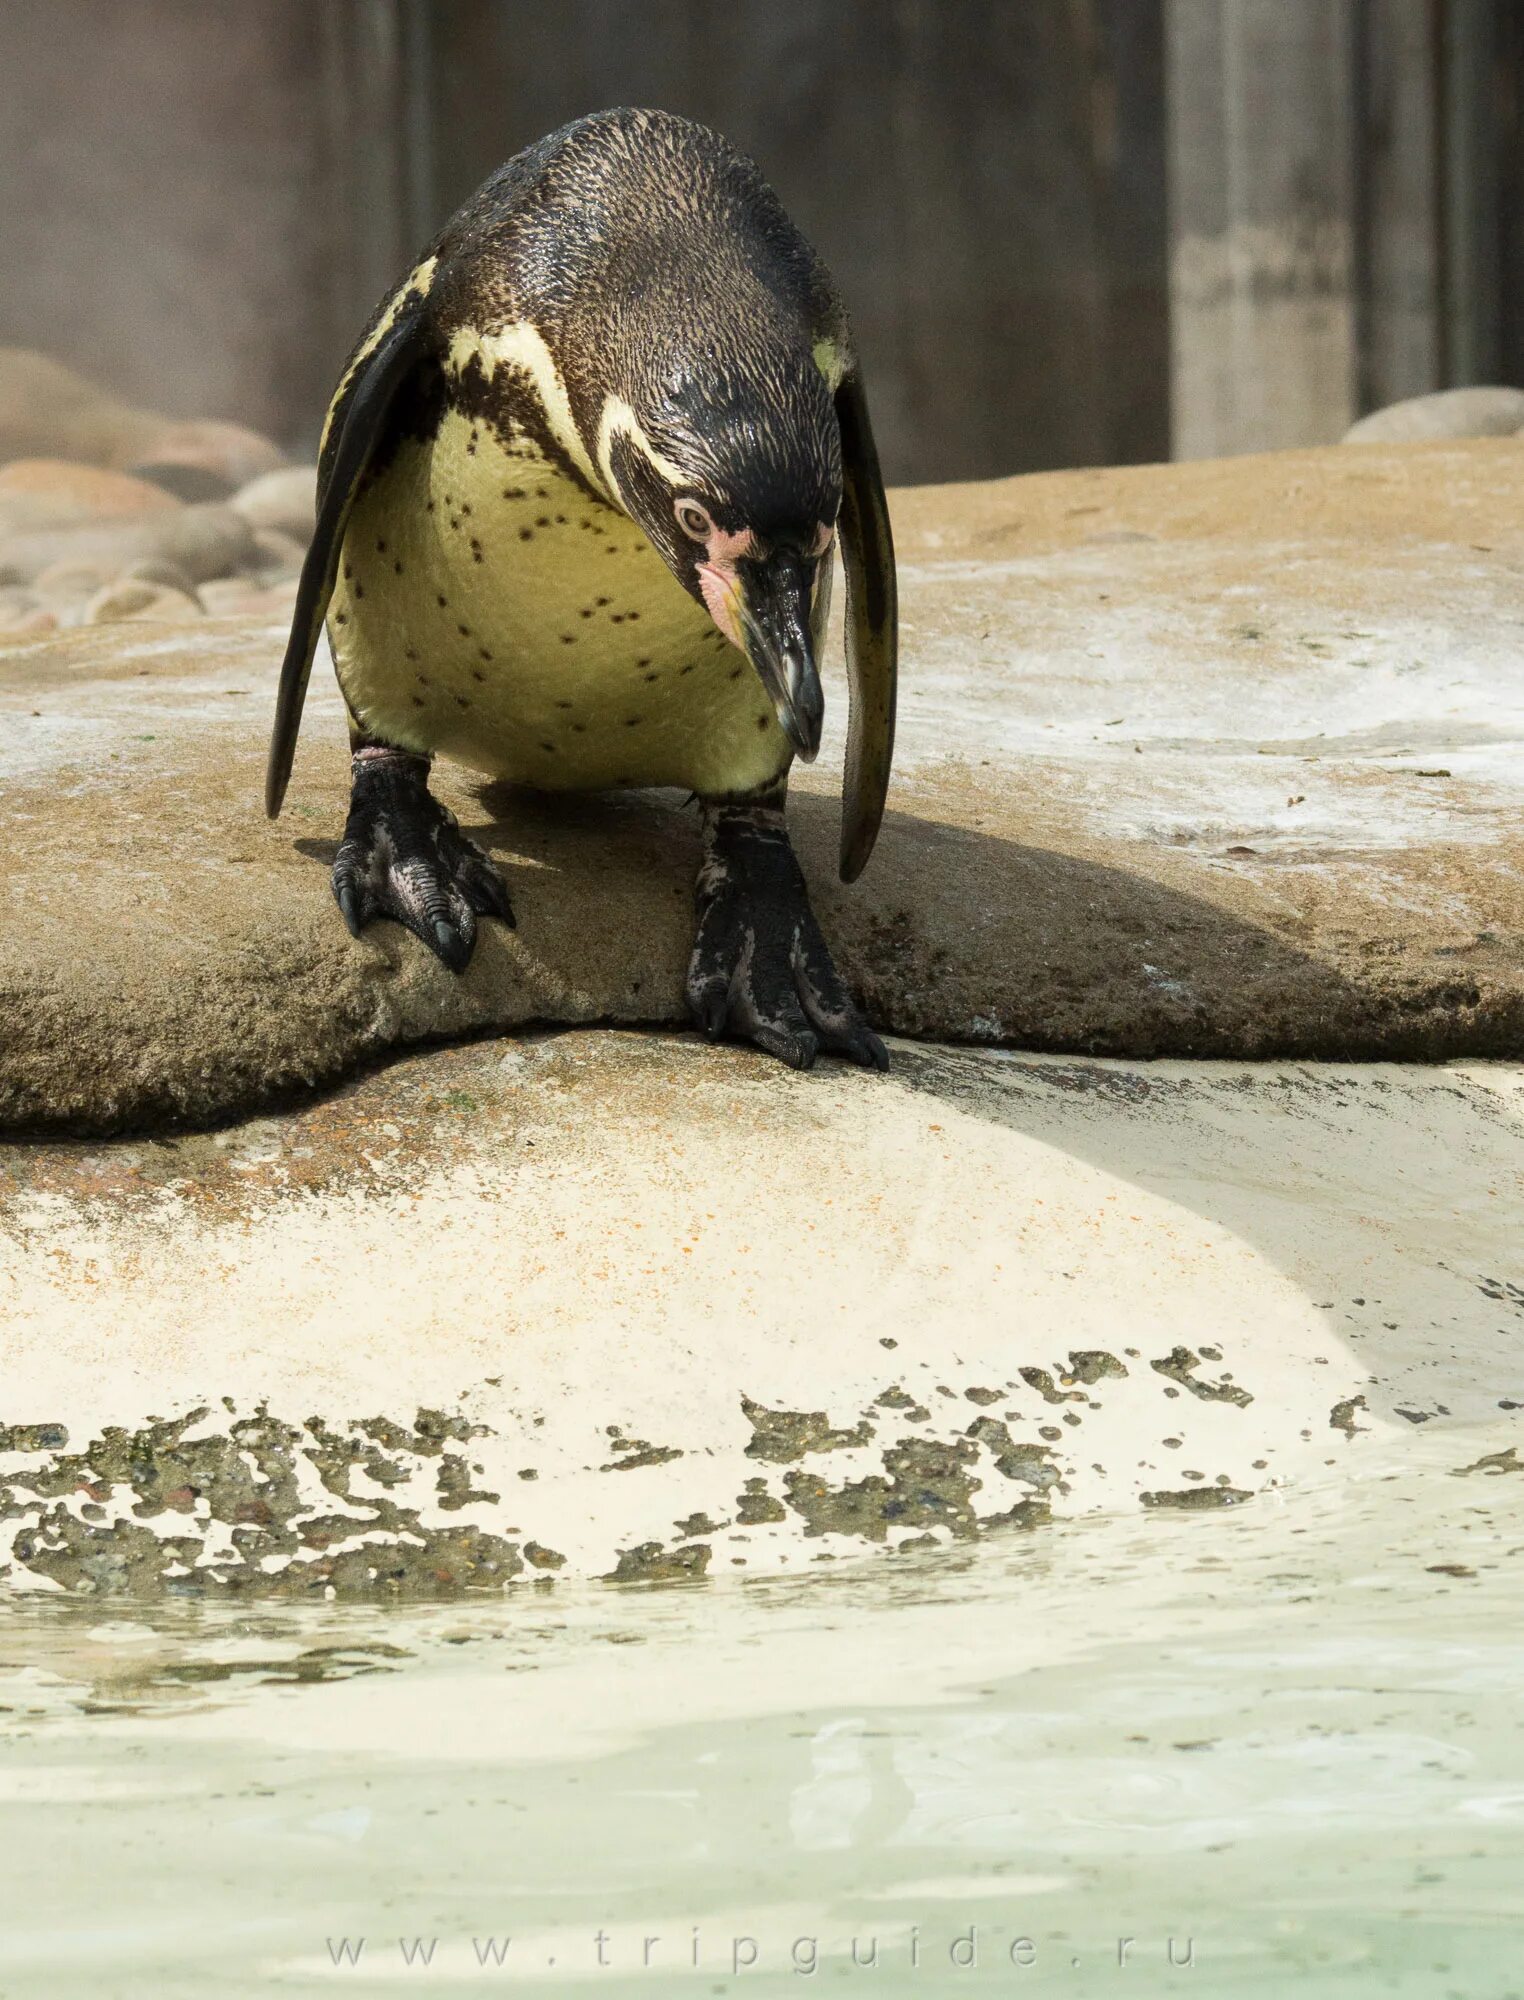
{"label": "cream-painted sloping ledge with peeling patches between brown rock and water", "polygon": [[[1524,1074],[572,1032],[0,1148],[0,1580],[776,1574],[1518,1470]],[[1058,1558],[1056,1558],[1058,1560]],[[1076,1556],[1078,1560],[1078,1556]]]}

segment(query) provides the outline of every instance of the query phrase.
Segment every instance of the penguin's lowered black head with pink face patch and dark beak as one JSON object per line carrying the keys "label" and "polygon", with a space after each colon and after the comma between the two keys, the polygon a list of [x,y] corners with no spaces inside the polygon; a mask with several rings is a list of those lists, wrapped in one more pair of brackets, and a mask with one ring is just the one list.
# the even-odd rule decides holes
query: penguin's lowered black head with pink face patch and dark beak
{"label": "penguin's lowered black head with pink face patch and dark beak", "polygon": [[620,502],[752,662],[790,744],[814,762],[816,610],[842,506],[830,390],[806,354],[746,372],[680,366],[644,402],[604,420]]}

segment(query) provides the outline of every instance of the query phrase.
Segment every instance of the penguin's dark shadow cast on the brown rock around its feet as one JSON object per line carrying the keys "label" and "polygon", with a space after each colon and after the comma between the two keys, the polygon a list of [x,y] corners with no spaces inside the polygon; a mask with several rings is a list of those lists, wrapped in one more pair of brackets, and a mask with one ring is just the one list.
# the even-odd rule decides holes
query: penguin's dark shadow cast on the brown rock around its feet
{"label": "penguin's dark shadow cast on the brown rock around its feet", "polygon": [[[606,994],[610,1018],[632,1018],[632,992],[650,1020],[672,1018],[700,858],[684,794],[452,778],[442,792],[502,870],[518,938],[548,972]],[[844,886],[838,800],[794,792],[788,820],[838,962],[890,1032],[1116,1056],[1446,1052],[1430,1008],[1126,868],[896,808]],[[324,866],[338,852],[292,844]],[[466,976],[490,980],[494,962],[496,946],[478,946]]]}

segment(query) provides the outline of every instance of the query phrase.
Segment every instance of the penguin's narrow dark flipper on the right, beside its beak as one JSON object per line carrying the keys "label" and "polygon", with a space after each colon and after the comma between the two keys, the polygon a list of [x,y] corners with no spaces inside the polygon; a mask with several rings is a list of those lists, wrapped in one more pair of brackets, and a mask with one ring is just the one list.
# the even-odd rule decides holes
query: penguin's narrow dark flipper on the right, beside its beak
{"label": "penguin's narrow dark flipper on the right, beside its beak", "polygon": [[842,568],[846,572],[846,678],[852,720],[842,784],[842,882],[856,882],[878,838],[894,760],[894,686],[900,620],[884,476],[862,378],[836,390],[842,430]]}

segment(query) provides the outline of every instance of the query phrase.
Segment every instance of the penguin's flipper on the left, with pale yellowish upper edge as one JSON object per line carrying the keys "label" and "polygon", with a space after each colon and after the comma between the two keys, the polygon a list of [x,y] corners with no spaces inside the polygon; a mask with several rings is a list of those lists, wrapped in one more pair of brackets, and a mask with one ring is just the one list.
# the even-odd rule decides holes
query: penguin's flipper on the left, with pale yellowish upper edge
{"label": "penguin's flipper on the left, with pale yellowish upper edge", "polygon": [[280,814],[286,798],[296,736],[302,726],[302,704],[312,678],[312,654],[318,650],[328,600],[334,594],[354,496],[386,438],[388,418],[400,388],[432,352],[424,298],[418,292],[406,294],[406,298],[410,302],[396,312],[380,340],[352,364],[334,404],[332,448],[324,450],[324,464],[318,470],[318,524],[302,564],[286,658],[280,662],[276,720],[270,730],[270,760],[264,772],[264,810],[272,820]]}

